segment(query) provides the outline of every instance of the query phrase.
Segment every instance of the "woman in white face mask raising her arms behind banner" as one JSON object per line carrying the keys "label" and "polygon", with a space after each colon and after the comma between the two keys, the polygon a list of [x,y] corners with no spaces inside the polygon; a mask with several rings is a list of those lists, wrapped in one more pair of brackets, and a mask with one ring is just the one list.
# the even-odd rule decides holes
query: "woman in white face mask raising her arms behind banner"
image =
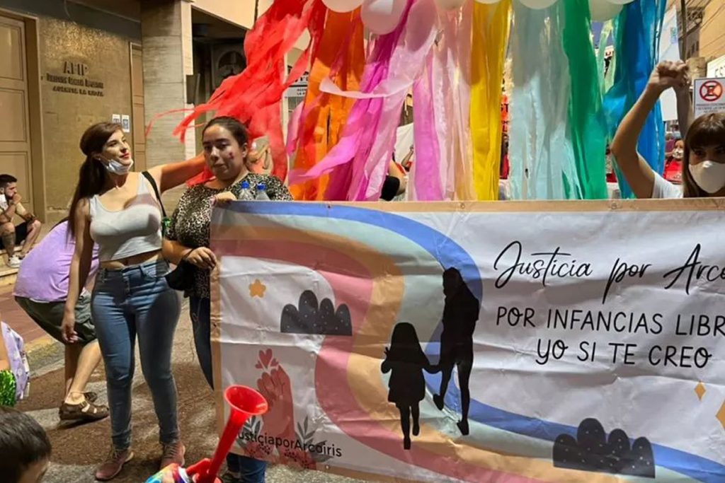
{"label": "woman in white face mask raising her arms behind banner", "polygon": [[[682,127],[682,190],[655,173],[637,153],[637,140],[660,95],[674,88]],[[689,78],[684,62],[655,67],[642,96],[624,117],[612,142],[612,152],[637,198],[705,198],[725,196],[725,114],[692,118]]]}

